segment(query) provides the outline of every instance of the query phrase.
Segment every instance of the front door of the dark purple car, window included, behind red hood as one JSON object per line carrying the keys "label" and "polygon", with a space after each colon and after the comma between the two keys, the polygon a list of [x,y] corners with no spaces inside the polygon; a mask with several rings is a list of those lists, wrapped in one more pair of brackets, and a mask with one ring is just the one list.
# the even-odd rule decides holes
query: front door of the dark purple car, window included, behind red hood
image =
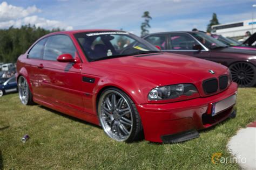
{"label": "front door of the dark purple car, window included, behind red hood", "polygon": [[[170,33],[166,52],[195,56],[201,59],[210,58],[208,49],[188,33]],[[195,49],[198,46],[201,49]]]}

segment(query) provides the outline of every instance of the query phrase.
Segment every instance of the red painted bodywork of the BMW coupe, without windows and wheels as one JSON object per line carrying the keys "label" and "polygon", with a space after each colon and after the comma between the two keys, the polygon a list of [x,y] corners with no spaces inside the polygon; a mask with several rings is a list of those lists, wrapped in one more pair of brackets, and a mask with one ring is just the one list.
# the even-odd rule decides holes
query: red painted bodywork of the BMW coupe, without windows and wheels
{"label": "red painted bodywork of the BMW coupe, without windows and wheels", "polygon": [[[45,36],[54,34],[69,36],[77,49],[75,64],[29,59],[27,55],[30,49],[19,56],[16,76],[17,79],[21,75],[26,78],[33,101],[99,125],[98,97],[106,87],[116,87],[123,90],[136,104],[142,119],[145,139],[156,142],[161,142],[160,136],[165,134],[208,128],[223,121],[232,113],[234,105],[219,114],[217,116],[219,118],[215,117],[216,119],[208,123],[204,124],[202,118],[203,114],[208,115],[207,111],[212,103],[237,93],[237,84],[234,82],[225,90],[218,90],[215,94],[204,93],[202,82],[212,77],[227,75],[228,70],[225,66],[170,53],[143,54],[88,62],[73,34],[92,31],[106,30],[65,31]],[[215,74],[210,74],[209,69],[214,70]],[[84,76],[95,79],[95,82],[83,82]],[[179,83],[194,84],[199,96],[191,100],[178,98],[166,101],[150,101],[147,98],[153,88]]]}

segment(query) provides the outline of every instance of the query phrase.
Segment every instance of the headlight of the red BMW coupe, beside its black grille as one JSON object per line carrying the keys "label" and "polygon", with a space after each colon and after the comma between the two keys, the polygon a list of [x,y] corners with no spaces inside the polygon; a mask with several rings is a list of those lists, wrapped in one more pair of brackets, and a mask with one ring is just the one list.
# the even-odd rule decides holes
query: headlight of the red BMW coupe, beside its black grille
{"label": "headlight of the red BMW coupe, beside its black grille", "polygon": [[193,84],[175,84],[170,86],[157,87],[150,91],[149,100],[166,100],[180,96],[191,96],[198,93]]}

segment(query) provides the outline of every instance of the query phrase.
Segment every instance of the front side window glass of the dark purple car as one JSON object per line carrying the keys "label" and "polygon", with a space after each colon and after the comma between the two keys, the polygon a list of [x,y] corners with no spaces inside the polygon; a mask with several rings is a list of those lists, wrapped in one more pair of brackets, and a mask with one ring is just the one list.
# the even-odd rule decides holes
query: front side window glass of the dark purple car
{"label": "front side window glass of the dark purple car", "polygon": [[199,43],[187,34],[171,34],[170,35],[170,47],[176,50],[191,50],[193,45]]}

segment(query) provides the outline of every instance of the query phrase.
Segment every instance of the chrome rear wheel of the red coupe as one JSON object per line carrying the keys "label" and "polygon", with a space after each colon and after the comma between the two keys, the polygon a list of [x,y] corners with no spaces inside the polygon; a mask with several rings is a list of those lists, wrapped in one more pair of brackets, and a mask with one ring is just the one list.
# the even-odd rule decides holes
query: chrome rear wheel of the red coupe
{"label": "chrome rear wheel of the red coupe", "polygon": [[29,101],[29,86],[23,76],[19,77],[18,80],[19,99],[22,104],[26,105]]}

